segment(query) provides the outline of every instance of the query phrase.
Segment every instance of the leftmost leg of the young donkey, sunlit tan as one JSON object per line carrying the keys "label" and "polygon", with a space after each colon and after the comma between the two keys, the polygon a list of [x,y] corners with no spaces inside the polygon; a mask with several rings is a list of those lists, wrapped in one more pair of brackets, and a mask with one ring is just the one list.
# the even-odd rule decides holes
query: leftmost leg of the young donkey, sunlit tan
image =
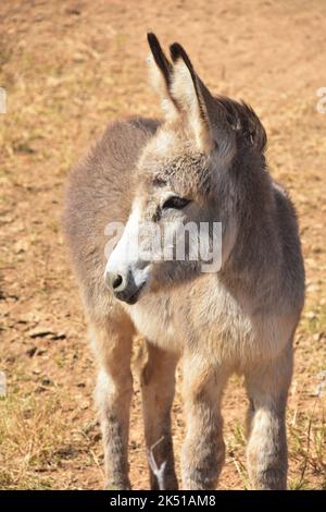
{"label": "leftmost leg of the young donkey, sunlit tan", "polygon": [[118,310],[105,321],[92,322],[90,333],[100,366],[96,400],[104,443],[105,488],[129,489],[127,451],[134,327],[128,317]]}

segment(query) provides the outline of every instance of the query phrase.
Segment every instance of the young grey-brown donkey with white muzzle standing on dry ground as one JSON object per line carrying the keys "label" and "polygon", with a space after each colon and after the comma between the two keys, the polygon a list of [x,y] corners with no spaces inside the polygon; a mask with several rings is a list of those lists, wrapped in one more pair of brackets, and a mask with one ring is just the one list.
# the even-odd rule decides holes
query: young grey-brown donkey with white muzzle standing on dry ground
{"label": "young grey-brown donkey with white muzzle standing on dry ground", "polygon": [[[225,459],[221,401],[233,373],[243,376],[249,398],[251,486],[286,489],[286,403],[304,302],[296,211],[268,173],[266,134],[254,111],[213,96],[179,44],[170,47],[168,59],[153,34],[148,41],[163,121],[110,124],[73,171],[64,214],[100,368],[96,397],[106,488],[130,488],[130,354],[138,334],[148,348],[141,369],[146,444],[155,444],[164,488],[178,485],[171,407],[181,358],[183,489],[216,488]],[[113,221],[125,228],[106,258],[104,230]],[[222,223],[218,271],[203,272],[206,261],[187,257],[191,240],[184,260],[131,258],[130,241],[141,223],[177,233],[201,221]],[[211,243],[212,229],[209,236]],[[146,235],[141,244],[149,244]],[[149,471],[156,489],[158,475]]]}

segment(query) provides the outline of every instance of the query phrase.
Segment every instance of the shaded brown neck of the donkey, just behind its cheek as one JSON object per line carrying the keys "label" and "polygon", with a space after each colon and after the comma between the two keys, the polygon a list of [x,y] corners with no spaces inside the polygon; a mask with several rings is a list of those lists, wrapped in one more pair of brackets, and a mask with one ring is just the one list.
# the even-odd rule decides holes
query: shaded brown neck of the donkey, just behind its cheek
{"label": "shaded brown neck of the donkey, just behind its cheek", "polygon": [[242,160],[229,172],[226,209],[237,233],[222,269],[227,280],[252,283],[253,275],[263,279],[279,259],[273,184],[263,163]]}

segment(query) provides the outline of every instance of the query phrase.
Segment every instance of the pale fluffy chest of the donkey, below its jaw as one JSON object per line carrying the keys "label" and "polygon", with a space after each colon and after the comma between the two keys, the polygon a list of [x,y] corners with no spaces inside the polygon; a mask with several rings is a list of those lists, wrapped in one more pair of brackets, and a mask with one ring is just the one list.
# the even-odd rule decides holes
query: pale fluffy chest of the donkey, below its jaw
{"label": "pale fluffy chest of the donkey, below its jaw", "polygon": [[278,352],[290,336],[286,319],[253,314],[250,300],[239,301],[222,287],[148,296],[127,308],[152,343],[180,353],[187,346],[237,367]]}

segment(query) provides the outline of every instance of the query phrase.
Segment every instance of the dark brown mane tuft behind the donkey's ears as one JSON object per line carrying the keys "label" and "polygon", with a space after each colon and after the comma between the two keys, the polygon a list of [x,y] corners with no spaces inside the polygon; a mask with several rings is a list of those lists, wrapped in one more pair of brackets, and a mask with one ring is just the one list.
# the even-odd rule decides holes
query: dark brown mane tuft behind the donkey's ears
{"label": "dark brown mane tuft behind the donkey's ears", "polygon": [[216,96],[215,101],[226,115],[227,124],[246,145],[264,153],[267,145],[267,136],[258,114],[244,101],[238,102],[225,96]]}

